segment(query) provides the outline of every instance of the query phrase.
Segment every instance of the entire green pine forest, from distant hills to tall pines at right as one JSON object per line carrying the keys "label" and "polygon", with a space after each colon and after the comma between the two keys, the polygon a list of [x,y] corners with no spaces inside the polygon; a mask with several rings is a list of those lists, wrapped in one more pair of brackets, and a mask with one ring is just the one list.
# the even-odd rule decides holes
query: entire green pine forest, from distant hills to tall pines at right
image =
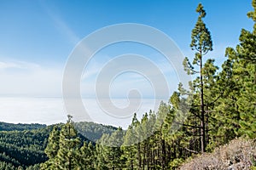
{"label": "entire green pine forest, from distant hills to tall pines at right", "polygon": [[[108,127],[92,122],[21,126],[3,124],[0,169],[176,169],[189,157],[211,152],[232,139],[256,138],[256,0],[247,14],[253,30],[241,30],[236,48],[226,48],[221,68],[205,57],[213,50],[202,4],[191,33],[193,75],[189,89],[178,84],[168,103],[131,125]],[[11,130],[11,131],[10,131]],[[96,141],[96,142],[95,142]],[[256,166],[256,156],[251,156]]]}

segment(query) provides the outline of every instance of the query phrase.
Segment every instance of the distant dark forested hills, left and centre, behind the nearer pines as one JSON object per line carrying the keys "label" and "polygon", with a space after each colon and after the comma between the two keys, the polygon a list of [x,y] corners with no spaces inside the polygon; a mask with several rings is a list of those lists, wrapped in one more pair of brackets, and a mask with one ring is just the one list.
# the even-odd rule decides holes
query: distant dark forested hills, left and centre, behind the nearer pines
{"label": "distant dark forested hills, left and centre, behind the nearer pines", "polygon": [[[61,127],[62,124],[56,124]],[[96,140],[102,133],[112,133],[115,127],[104,126],[93,122],[79,122],[80,139]],[[54,125],[0,123],[0,169],[30,167],[37,169],[39,163],[47,160],[44,149],[48,143],[49,133]],[[88,137],[88,138],[86,138]]]}

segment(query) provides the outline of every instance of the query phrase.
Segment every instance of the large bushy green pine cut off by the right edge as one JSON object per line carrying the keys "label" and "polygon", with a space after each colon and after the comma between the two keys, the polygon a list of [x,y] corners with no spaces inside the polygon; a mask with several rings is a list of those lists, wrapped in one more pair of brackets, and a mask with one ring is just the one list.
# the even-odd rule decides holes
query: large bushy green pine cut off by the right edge
{"label": "large bushy green pine cut off by the right edge", "polygon": [[254,21],[253,31],[241,30],[240,44],[226,49],[232,71],[230,79],[236,90],[236,95],[226,99],[233,99],[232,105],[236,110],[239,121],[239,135],[254,138],[256,131],[256,1],[253,0],[254,11],[247,16]]}

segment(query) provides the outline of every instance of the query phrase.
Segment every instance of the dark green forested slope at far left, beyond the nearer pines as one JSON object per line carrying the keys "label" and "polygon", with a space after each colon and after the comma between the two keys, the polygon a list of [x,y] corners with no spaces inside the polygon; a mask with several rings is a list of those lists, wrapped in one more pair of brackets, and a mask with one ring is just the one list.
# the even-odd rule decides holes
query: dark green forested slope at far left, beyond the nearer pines
{"label": "dark green forested slope at far left, beyond the nearer pines", "polygon": [[[10,123],[2,125],[4,128],[0,132],[0,169],[22,169],[47,160],[44,149],[52,127]],[[30,130],[21,130],[26,127]]]}

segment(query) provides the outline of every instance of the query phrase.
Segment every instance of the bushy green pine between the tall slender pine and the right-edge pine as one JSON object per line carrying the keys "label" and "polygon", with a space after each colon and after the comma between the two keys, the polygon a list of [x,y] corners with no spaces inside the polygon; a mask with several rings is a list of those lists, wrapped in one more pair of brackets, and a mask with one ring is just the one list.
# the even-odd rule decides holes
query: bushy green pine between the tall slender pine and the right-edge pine
{"label": "bushy green pine between the tall slender pine and the right-edge pine", "polygon": [[234,78],[234,60],[231,59],[235,50],[227,48],[226,52],[230,57],[224,61],[222,71],[218,74],[216,93],[221,95],[219,95],[214,108],[215,122],[212,123],[211,135],[213,138],[210,141],[209,149],[213,149],[220,144],[227,144],[239,135],[241,116],[237,107],[237,99],[240,96],[240,87],[237,86]]}

